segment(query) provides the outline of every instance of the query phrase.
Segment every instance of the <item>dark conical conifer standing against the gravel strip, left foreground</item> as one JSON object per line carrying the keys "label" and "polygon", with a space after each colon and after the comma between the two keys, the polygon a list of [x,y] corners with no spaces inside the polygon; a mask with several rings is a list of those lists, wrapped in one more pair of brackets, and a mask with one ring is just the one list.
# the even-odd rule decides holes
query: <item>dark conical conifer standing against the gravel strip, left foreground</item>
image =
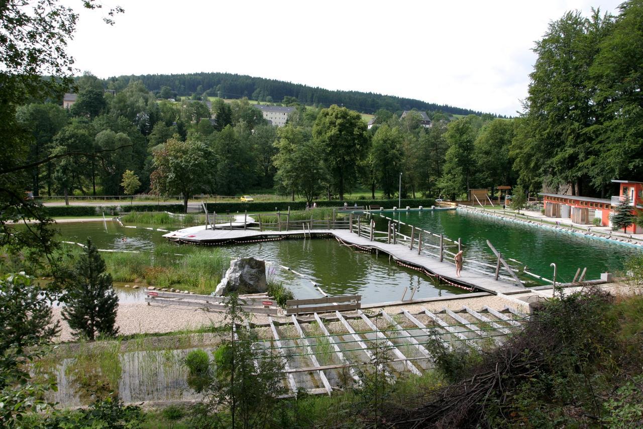
{"label": "dark conical conifer standing against the gravel strip, left foreground", "polygon": [[96,334],[114,336],[118,333],[118,327],[114,327],[117,309],[118,296],[112,286],[112,277],[105,273],[105,261],[88,238],[87,248],[73,270],[62,317],[75,334],[94,340]]}

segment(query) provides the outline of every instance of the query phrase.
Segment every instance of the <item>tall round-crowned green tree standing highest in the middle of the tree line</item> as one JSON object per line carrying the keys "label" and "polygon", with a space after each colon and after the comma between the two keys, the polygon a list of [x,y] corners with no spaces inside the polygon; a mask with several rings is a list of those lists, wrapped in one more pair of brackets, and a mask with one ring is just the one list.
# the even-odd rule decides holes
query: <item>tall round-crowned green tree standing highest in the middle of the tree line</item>
{"label": "tall round-crowned green tree standing highest in the middle of the tree line", "polygon": [[345,185],[356,178],[359,160],[368,149],[366,123],[359,113],[334,104],[321,110],[312,136],[343,200]]}

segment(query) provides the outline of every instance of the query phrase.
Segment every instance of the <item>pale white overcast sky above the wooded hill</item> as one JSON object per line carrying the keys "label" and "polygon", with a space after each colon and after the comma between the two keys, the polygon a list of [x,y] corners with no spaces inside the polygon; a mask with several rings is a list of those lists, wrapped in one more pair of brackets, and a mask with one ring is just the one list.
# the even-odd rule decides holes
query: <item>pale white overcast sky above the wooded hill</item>
{"label": "pale white overcast sky above the wooded hill", "polygon": [[548,24],[622,0],[100,3],[125,13],[82,11],[69,43],[100,78],[228,72],[515,116]]}

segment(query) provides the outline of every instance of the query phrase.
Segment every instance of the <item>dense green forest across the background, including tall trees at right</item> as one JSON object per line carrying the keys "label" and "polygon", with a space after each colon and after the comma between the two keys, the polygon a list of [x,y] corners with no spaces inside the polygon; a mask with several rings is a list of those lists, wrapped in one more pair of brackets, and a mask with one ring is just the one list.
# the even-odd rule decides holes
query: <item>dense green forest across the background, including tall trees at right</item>
{"label": "dense green forest across the background, including tall trees at right", "polygon": [[[290,84],[231,75],[104,81],[87,73],[77,78],[77,102],[68,110],[55,103],[17,107],[18,123],[31,134],[26,161],[55,158],[33,167],[24,188],[36,195],[122,195],[129,170],[139,183],[129,192],[184,196],[274,189],[311,201],[367,188],[374,198],[390,198],[400,174],[402,197],[457,198],[469,188],[516,184],[532,192],[547,186],[608,196],[612,179],[643,177],[637,66],[643,50],[633,48],[643,47],[642,10],[633,1],[617,17],[570,12],[552,22],[534,48],[538,60],[525,111],[512,120],[454,119],[439,109],[403,117],[401,108],[412,104],[374,104],[376,123],[367,129],[354,109],[305,105],[338,98],[315,100],[323,91],[304,86],[284,95],[256,91],[259,83],[279,91]],[[294,111],[276,128],[248,98],[201,101],[226,88],[236,92],[221,95],[284,95],[280,102]],[[177,95],[192,89],[189,97]],[[422,126],[420,112],[432,119],[430,127]],[[80,157],[56,158],[66,152]]]}

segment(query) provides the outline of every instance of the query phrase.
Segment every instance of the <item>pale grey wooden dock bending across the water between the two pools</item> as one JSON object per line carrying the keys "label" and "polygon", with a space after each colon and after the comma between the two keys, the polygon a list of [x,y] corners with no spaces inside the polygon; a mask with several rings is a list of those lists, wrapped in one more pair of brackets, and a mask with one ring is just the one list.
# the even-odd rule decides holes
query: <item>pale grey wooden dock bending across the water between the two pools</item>
{"label": "pale grey wooden dock bending across the water between the two pools", "polygon": [[[324,228],[326,226],[329,228]],[[452,258],[437,257],[434,253],[430,253],[428,248],[426,250],[422,250],[422,248],[418,250],[417,246],[413,248],[413,239],[411,239],[410,246],[403,241],[397,242],[393,240],[393,242],[391,242],[390,237],[382,237],[382,234],[386,235],[386,233],[375,232],[372,226],[369,231],[367,226],[359,224],[359,220],[358,224],[355,225],[352,217],[350,221],[305,221],[301,224],[291,223],[289,226],[286,226],[285,229],[286,230],[281,231],[250,228],[217,230],[206,229],[205,226],[193,226],[192,228],[167,233],[163,235],[163,237],[172,241],[189,244],[222,245],[281,240],[287,237],[332,236],[342,244],[358,248],[359,250],[386,253],[399,264],[419,269],[454,286],[465,286],[466,288],[478,289],[496,295],[499,293],[512,293],[525,290],[524,286],[518,284],[518,282],[505,280],[503,277],[496,280],[493,274],[484,273],[474,268],[467,268],[466,262],[462,269],[461,277],[456,277],[455,264],[451,261]],[[379,235],[379,237],[377,237],[377,235]],[[421,238],[419,238],[419,240],[421,241]],[[427,244],[426,246],[429,245]],[[451,253],[446,250],[444,250],[444,252]],[[442,255],[442,253],[440,253],[440,255]],[[500,264],[500,262],[498,262],[498,264]],[[514,273],[511,274],[514,275]]]}

